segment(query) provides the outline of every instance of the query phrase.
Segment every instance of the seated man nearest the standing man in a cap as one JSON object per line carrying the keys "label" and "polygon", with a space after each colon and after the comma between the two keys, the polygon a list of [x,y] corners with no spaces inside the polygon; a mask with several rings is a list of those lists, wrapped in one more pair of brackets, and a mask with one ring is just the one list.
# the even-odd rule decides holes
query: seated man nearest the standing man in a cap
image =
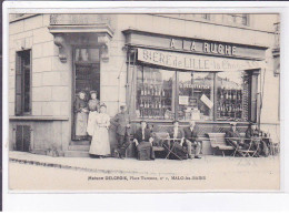
{"label": "seated man nearest the standing man in a cap", "polygon": [[147,129],[147,122],[140,122],[141,127],[138,129],[133,135],[133,142],[136,143],[137,150],[141,147],[150,146],[150,158],[155,160],[155,152],[152,150],[153,137],[151,136],[151,130]]}

